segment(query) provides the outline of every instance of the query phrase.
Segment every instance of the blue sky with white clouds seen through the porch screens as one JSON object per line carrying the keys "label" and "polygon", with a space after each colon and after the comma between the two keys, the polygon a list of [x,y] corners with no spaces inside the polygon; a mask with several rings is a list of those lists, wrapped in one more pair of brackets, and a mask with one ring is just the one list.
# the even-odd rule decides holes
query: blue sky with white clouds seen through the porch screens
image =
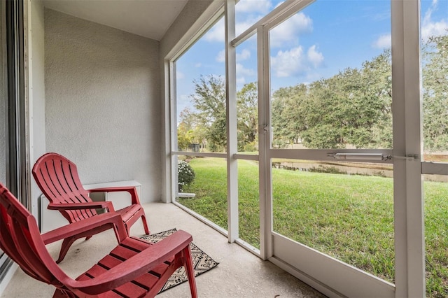
{"label": "blue sky with white clouds seen through the porch screens", "polygon": [[[237,3],[237,35],[281,1]],[[391,45],[390,0],[317,0],[270,34],[271,90],[328,78],[381,54]],[[448,34],[448,0],[421,1],[421,37]],[[257,80],[256,39],[237,47],[237,87]],[[189,106],[193,80],[225,77],[224,22],[220,20],[176,63],[178,114]]]}

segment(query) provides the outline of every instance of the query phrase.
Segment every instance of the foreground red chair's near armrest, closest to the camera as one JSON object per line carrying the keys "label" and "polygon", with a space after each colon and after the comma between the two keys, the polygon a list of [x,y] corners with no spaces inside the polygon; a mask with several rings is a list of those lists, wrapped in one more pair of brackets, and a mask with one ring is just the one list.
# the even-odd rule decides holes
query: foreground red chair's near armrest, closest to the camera
{"label": "foreground red chair's near armrest, closest to the camera", "polygon": [[190,234],[179,230],[162,241],[142,250],[137,255],[130,257],[125,262],[118,264],[109,271],[105,271],[104,274],[96,278],[87,281],[74,281],[73,279],[69,279],[63,281],[63,283],[67,283],[73,286],[73,288],[78,288],[89,295],[97,295],[101,292],[113,290],[120,285],[142,276],[158,264],[168,260],[169,257],[180,253],[184,248],[188,248],[191,241],[193,241],[193,237]]}

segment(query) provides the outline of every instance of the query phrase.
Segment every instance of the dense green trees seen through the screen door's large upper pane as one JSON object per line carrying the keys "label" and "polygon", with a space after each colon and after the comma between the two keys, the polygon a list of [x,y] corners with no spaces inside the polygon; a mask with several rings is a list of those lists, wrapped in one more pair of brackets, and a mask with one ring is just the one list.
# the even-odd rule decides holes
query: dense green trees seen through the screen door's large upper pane
{"label": "dense green trees seen through the screen door's large upper pane", "polygon": [[307,148],[391,148],[390,60],[385,50],[362,69],[274,92],[274,140],[300,140]]}

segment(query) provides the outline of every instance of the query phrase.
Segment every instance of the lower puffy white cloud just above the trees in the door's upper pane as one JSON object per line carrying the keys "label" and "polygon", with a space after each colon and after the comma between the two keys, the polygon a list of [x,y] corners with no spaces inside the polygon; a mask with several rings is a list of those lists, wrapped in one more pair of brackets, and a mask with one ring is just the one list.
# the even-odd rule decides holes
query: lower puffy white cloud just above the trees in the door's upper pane
{"label": "lower puffy white cloud just above the trees in the door's upper pane", "polygon": [[323,63],[323,54],[311,45],[306,54],[302,46],[290,50],[279,50],[275,57],[271,57],[271,66],[274,75],[278,78],[300,76],[316,69]]}

